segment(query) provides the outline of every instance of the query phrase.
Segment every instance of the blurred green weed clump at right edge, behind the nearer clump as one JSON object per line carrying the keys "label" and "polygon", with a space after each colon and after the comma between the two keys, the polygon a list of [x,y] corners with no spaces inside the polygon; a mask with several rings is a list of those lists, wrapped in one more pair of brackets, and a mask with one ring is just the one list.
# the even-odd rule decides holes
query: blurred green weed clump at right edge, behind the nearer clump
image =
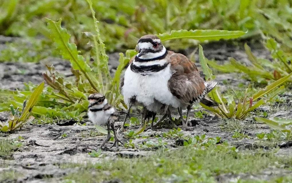
{"label": "blurred green weed clump at right edge, behind the nearer clump", "polygon": [[[292,72],[291,59],[292,53],[291,51],[281,49],[281,45],[275,41],[273,38],[267,38],[265,43],[267,49],[271,51],[271,57],[273,61],[257,58],[251,52],[251,48],[245,44],[245,52],[248,56],[248,60],[251,61],[250,66],[246,66],[245,64],[241,64],[239,61],[236,61],[234,58],[230,58],[227,64],[217,64],[214,60],[208,60],[207,63],[214,69],[230,73],[245,73],[248,79],[262,83],[268,84],[271,81],[279,80]],[[291,78],[288,78],[288,82],[292,82]]]}

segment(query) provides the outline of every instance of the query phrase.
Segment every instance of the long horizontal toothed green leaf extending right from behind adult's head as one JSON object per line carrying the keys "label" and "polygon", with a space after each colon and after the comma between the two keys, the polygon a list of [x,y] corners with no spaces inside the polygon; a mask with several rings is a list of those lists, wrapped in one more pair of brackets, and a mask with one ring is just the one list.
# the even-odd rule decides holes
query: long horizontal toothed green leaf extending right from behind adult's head
{"label": "long horizontal toothed green leaf extending right from behind adult's head", "polygon": [[220,39],[230,39],[230,38],[238,38],[244,35],[243,31],[226,31],[226,30],[179,30],[179,31],[171,31],[170,34],[163,33],[157,35],[161,41],[166,41],[170,39],[180,39],[180,38],[188,38],[188,39],[196,39],[199,41],[205,40],[220,40]]}

